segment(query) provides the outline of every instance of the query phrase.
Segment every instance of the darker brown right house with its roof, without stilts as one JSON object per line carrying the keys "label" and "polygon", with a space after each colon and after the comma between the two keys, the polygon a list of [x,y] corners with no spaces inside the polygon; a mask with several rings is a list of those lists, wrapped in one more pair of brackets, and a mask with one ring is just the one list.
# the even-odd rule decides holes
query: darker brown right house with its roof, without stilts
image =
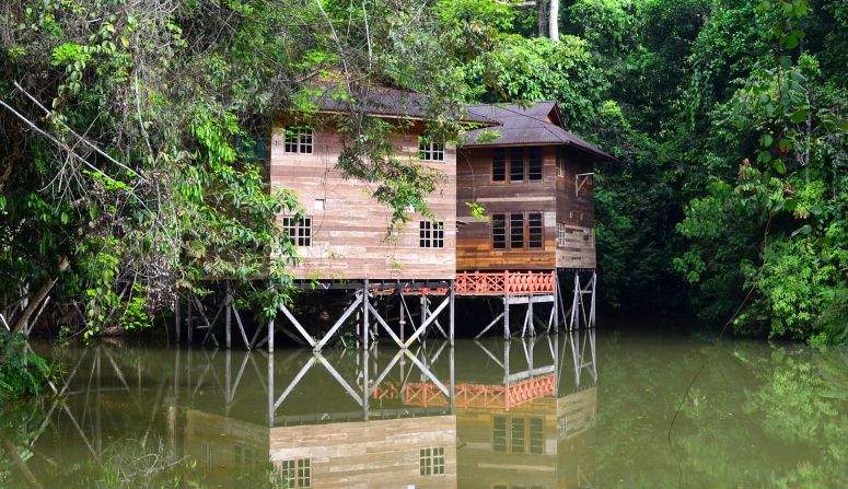
{"label": "darker brown right house with its roof, without stilts", "polygon": [[498,125],[457,152],[457,271],[594,269],[593,164],[614,158],[569,132],[555,102],[468,112]]}

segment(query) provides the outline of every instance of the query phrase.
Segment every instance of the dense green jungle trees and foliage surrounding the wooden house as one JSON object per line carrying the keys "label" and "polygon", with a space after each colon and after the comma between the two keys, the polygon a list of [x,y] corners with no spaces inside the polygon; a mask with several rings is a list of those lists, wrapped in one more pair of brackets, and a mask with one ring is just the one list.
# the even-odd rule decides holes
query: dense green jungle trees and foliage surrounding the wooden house
{"label": "dense green jungle trees and foliage surrounding the wooden house", "polygon": [[[452,136],[468,103],[558,101],[618,159],[595,178],[603,306],[720,327],[742,304],[740,334],[846,341],[848,1],[531,3],[4,0],[0,306],[27,304],[10,326],[144,327],[208,276],[272,314],[295,258],[272,218],[298,202],[253,142],[332,80],[350,101],[423,93]],[[344,128],[345,172],[398,224],[426,209],[438,176],[388,127]]]}

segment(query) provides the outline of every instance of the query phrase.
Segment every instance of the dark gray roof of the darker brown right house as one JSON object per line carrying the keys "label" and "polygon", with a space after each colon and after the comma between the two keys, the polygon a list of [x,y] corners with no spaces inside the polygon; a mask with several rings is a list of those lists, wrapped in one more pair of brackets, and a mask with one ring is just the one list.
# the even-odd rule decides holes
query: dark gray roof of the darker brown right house
{"label": "dark gray roof of the darker brown right house", "polygon": [[[527,107],[519,104],[472,105],[468,114],[497,120],[498,126],[469,130],[461,148],[567,144],[601,160],[615,160],[594,144],[564,129],[556,102],[536,102]],[[492,131],[497,131],[499,137],[492,139]]]}

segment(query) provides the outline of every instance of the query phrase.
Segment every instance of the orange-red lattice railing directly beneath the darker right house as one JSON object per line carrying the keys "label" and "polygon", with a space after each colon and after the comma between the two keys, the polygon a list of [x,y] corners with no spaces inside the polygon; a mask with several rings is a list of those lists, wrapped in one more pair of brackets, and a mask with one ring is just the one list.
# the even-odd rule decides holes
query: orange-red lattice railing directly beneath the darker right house
{"label": "orange-red lattice railing directly beneath the darker right house", "polygon": [[492,272],[456,273],[454,287],[458,295],[501,295],[554,293],[556,273]]}

